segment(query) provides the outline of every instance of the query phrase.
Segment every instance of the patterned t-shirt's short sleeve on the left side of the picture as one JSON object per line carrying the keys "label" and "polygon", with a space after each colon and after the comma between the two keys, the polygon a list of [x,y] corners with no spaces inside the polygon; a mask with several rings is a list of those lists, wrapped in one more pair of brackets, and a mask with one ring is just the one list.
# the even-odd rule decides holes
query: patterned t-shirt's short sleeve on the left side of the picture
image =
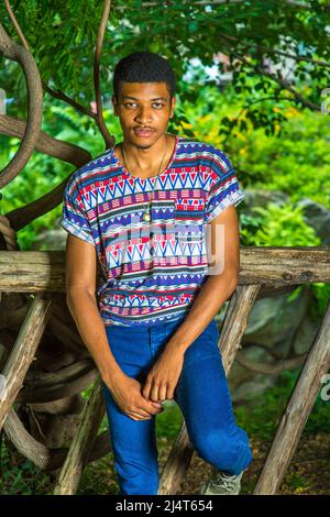
{"label": "patterned t-shirt's short sleeve on the left side of the picture", "polygon": [[78,194],[75,184],[69,180],[64,190],[59,224],[73,235],[95,245],[90,223]]}

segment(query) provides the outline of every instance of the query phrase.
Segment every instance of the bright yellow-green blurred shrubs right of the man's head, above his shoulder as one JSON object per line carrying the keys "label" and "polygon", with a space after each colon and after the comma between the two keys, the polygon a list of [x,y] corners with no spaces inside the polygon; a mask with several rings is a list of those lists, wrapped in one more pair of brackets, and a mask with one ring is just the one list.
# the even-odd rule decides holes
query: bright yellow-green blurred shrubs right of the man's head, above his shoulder
{"label": "bright yellow-green blurred shrubs right of the man's head, above his shoulder", "polygon": [[[246,119],[246,92],[237,96],[233,88],[221,92],[213,86],[199,85],[183,98],[189,123],[184,130],[229,153],[242,186],[278,190],[295,202],[304,197],[330,209],[330,118],[309,110],[298,111],[287,101],[266,102],[270,113],[279,112],[274,134],[255,129]],[[252,99],[250,99],[252,100]],[[242,125],[241,122],[245,122]],[[228,124],[231,131],[228,133]]]}

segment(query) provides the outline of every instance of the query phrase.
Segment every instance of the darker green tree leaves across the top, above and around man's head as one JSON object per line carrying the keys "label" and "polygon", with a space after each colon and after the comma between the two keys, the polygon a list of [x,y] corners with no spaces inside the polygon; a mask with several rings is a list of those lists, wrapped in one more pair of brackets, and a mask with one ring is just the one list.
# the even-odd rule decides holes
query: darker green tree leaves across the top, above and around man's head
{"label": "darker green tree leaves across the top, above and around man's head", "polygon": [[[193,57],[211,65],[213,55],[223,53],[230,59],[227,67],[220,68],[233,74],[233,95],[244,97],[248,110],[246,120],[240,119],[235,125],[243,131],[249,121],[254,129],[264,127],[266,134],[273,134],[285,117],[273,107],[286,102],[300,109],[301,98],[318,107],[320,92],[329,85],[329,68],[318,64],[329,62],[330,55],[330,14],[326,3],[314,1],[301,10],[295,2],[276,0],[208,6],[186,1],[152,6],[136,0],[111,2],[101,57],[103,98],[107,101],[112,94],[109,79],[118,59],[136,50],[168,57],[178,78],[179,95],[185,89],[180,79]],[[92,66],[102,7],[99,0],[31,0],[12,6],[43,80],[84,106],[95,99]],[[0,16],[10,36],[19,42],[3,3]],[[275,70],[271,77],[267,68],[261,67],[263,61],[271,58],[287,75],[292,66],[285,62],[287,55],[298,57],[294,74],[287,79],[289,90],[283,88]],[[15,67],[11,78],[7,73],[0,77],[6,79],[6,89],[19,99],[15,110],[22,114],[23,74],[14,64],[6,63],[6,67]],[[232,130],[229,119],[223,121],[223,131],[227,130]]]}

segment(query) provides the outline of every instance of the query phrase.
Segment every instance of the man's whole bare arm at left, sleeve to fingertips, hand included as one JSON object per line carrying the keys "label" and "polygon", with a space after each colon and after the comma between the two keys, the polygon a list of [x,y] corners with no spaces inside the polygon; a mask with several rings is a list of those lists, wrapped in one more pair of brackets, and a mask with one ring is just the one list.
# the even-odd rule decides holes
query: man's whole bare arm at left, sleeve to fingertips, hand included
{"label": "man's whole bare arm at left, sleeve to fingertips, hand included", "polygon": [[162,404],[145,400],[141,383],[124,374],[108,342],[96,299],[97,256],[95,246],[73,234],[66,250],[66,300],[79,334],[118,407],[132,420],[151,419]]}

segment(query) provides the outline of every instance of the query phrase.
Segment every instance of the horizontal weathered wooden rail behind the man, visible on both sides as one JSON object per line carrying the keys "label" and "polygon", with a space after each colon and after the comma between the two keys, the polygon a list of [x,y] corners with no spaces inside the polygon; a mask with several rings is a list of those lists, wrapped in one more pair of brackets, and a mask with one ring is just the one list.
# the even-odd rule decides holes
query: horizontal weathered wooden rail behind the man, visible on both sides
{"label": "horizontal weathered wooden rail behind the man, visible on both sides", "polygon": [[[242,246],[240,285],[330,283],[330,248]],[[0,292],[65,293],[64,251],[0,252]]]}

